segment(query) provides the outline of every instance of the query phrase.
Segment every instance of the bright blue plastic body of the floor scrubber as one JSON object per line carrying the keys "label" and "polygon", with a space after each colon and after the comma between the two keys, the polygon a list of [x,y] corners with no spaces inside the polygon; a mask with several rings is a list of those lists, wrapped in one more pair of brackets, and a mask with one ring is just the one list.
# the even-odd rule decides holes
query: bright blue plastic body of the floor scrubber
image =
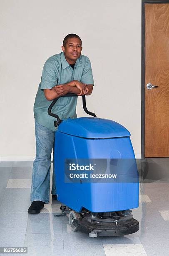
{"label": "bright blue plastic body of the floor scrubber", "polygon": [[[67,119],[55,134],[55,176],[58,200],[76,212],[113,212],[139,206],[139,180],[135,182],[65,182],[65,159],[134,159],[124,126],[112,120],[85,117]],[[128,175],[128,167],[123,173]],[[118,173],[117,173],[118,175]]]}

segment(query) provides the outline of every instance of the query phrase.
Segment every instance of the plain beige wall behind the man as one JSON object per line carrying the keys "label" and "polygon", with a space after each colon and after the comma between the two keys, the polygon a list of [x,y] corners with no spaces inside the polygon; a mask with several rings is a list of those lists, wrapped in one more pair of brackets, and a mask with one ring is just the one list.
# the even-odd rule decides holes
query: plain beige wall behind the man
{"label": "plain beige wall behind the man", "polygon": [[[45,60],[77,33],[94,75],[87,107],[124,125],[141,156],[141,0],[0,0],[0,161],[33,160]],[[77,113],[84,115],[79,99]]]}

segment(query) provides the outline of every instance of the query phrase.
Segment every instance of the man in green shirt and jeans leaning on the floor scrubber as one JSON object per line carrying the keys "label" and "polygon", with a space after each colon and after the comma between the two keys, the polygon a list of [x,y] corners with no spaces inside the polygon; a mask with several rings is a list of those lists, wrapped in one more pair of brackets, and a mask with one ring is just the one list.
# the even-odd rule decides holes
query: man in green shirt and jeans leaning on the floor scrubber
{"label": "man in green shirt and jeans leaning on the floor scrubber", "polygon": [[[90,95],[93,90],[91,63],[81,55],[82,41],[69,34],[64,38],[62,52],[45,62],[34,104],[36,159],[33,163],[31,205],[29,213],[39,213],[50,199],[50,164],[54,149],[55,118],[47,114],[51,101],[67,93]],[[60,97],[52,112],[60,119],[76,118],[77,97]],[[54,154],[53,154],[54,155]],[[57,200],[53,164],[52,199]]]}

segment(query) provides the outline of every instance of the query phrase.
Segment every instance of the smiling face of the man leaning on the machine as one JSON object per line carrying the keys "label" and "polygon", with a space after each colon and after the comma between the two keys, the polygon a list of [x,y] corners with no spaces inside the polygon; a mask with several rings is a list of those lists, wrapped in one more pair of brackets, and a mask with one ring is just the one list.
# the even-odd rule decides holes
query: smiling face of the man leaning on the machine
{"label": "smiling face of the man leaning on the machine", "polygon": [[68,38],[67,43],[62,46],[62,51],[65,54],[65,58],[69,64],[74,64],[80,57],[82,51],[82,44],[79,38]]}

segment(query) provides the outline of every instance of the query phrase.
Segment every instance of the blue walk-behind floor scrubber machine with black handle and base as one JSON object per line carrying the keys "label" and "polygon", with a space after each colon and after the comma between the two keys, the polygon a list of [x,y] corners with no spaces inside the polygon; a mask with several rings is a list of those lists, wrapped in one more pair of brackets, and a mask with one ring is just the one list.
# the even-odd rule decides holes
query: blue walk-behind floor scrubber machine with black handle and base
{"label": "blue walk-behind floor scrubber machine with black handle and base", "polygon": [[[68,94],[62,97],[75,97]],[[73,231],[89,237],[124,236],[139,230],[132,210],[139,206],[139,175],[130,133],[112,120],[91,117],[60,120],[55,117],[54,164],[61,214],[69,213]]]}

